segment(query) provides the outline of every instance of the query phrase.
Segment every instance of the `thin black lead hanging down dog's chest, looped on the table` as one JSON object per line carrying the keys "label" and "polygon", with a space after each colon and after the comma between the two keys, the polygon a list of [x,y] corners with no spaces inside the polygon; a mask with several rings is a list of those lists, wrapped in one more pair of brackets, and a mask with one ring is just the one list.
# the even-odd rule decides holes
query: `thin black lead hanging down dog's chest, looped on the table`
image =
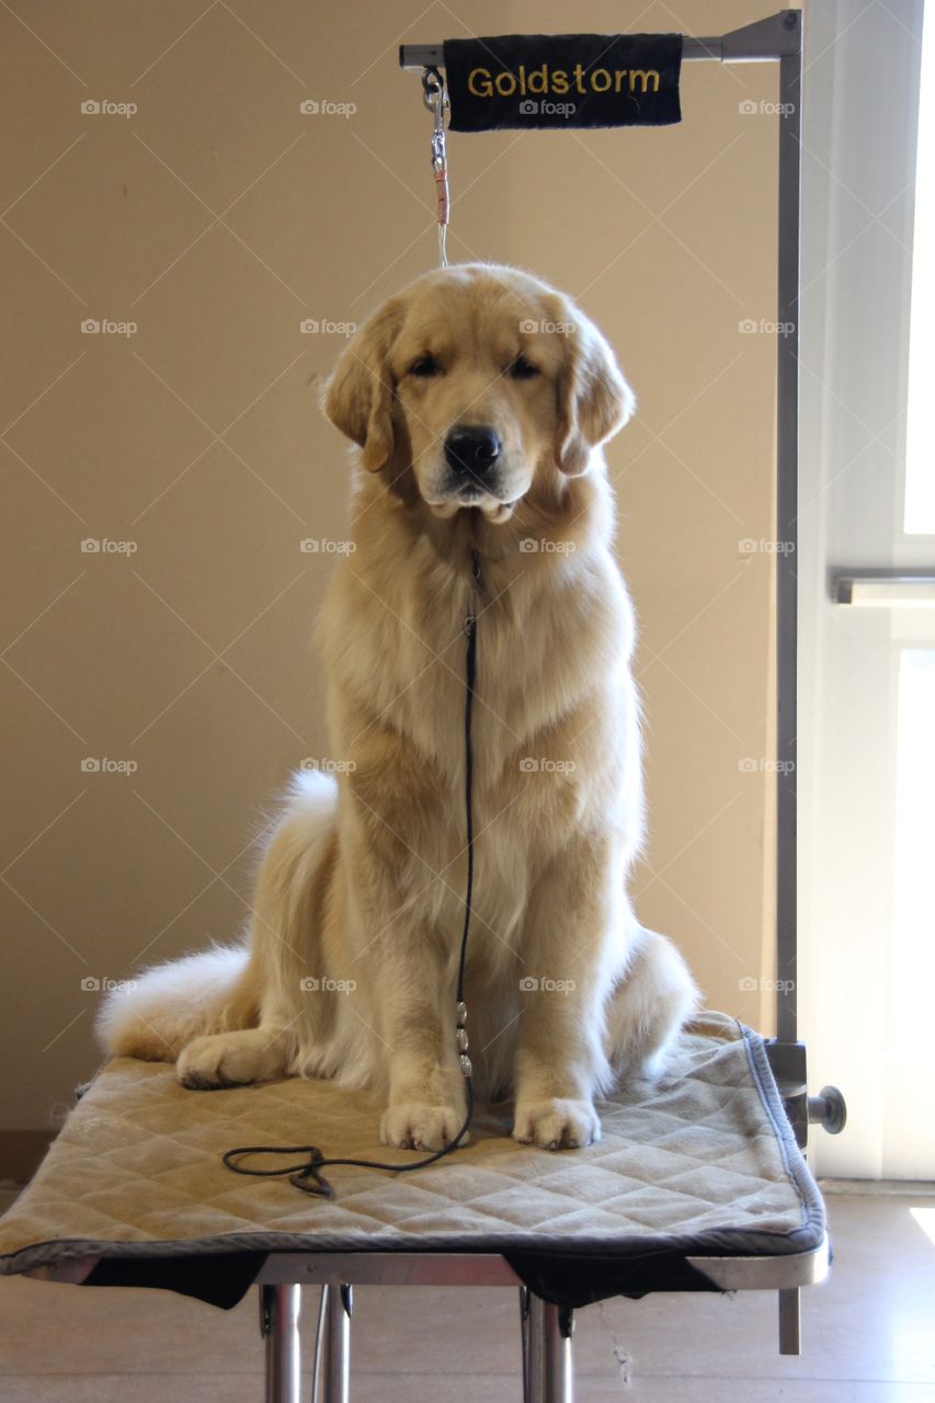
{"label": "thin black lead hanging down dog's chest, looped on the table", "polygon": [[[480,560],[477,557],[477,551],[472,551],[470,568],[475,577],[476,596],[476,591],[480,588]],[[300,1188],[305,1194],[317,1194],[323,1198],[334,1198],[334,1190],[321,1173],[321,1169],[326,1166],[352,1164],[357,1169],[386,1169],[393,1174],[406,1174],[414,1169],[427,1169],[428,1164],[434,1164],[445,1155],[451,1155],[452,1150],[458,1149],[470,1128],[475,1114],[475,1082],[470,1056],[468,1055],[465,962],[468,960],[470,901],[475,885],[475,815],[472,796],[475,756],[470,739],[470,716],[475,700],[475,679],[477,673],[477,616],[473,612],[465,619],[465,638],[468,640],[465,659],[465,817],[468,822],[468,881],[465,885],[465,927],[460,936],[460,958],[458,962],[458,1020],[455,1031],[455,1037],[458,1040],[458,1063],[465,1079],[465,1094],[468,1100],[468,1114],[465,1115],[465,1122],[455,1135],[453,1141],[442,1149],[437,1149],[432,1155],[427,1155],[425,1159],[417,1159],[409,1164],[385,1164],[383,1162],[375,1159],[326,1159],[317,1145],[241,1145],[237,1149],[226,1150],[222,1156],[227,1169],[232,1169],[234,1174],[250,1174],[256,1179],[277,1179],[279,1174],[288,1174],[289,1183],[295,1184],[295,1187]],[[253,1155],[307,1155],[307,1159],[299,1164],[286,1164],[284,1169],[246,1169],[241,1160]]]}

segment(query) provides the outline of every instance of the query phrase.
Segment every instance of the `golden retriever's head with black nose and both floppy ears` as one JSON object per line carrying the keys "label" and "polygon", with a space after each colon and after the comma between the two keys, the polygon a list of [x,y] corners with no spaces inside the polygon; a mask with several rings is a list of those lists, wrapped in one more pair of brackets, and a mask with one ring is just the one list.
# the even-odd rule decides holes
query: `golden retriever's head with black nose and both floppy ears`
{"label": "golden retriever's head with black nose and both floppy ears", "polygon": [[376,311],[324,397],[390,483],[438,515],[505,521],[538,473],[577,476],[633,411],[614,352],[562,293],[512,268],[427,274]]}

